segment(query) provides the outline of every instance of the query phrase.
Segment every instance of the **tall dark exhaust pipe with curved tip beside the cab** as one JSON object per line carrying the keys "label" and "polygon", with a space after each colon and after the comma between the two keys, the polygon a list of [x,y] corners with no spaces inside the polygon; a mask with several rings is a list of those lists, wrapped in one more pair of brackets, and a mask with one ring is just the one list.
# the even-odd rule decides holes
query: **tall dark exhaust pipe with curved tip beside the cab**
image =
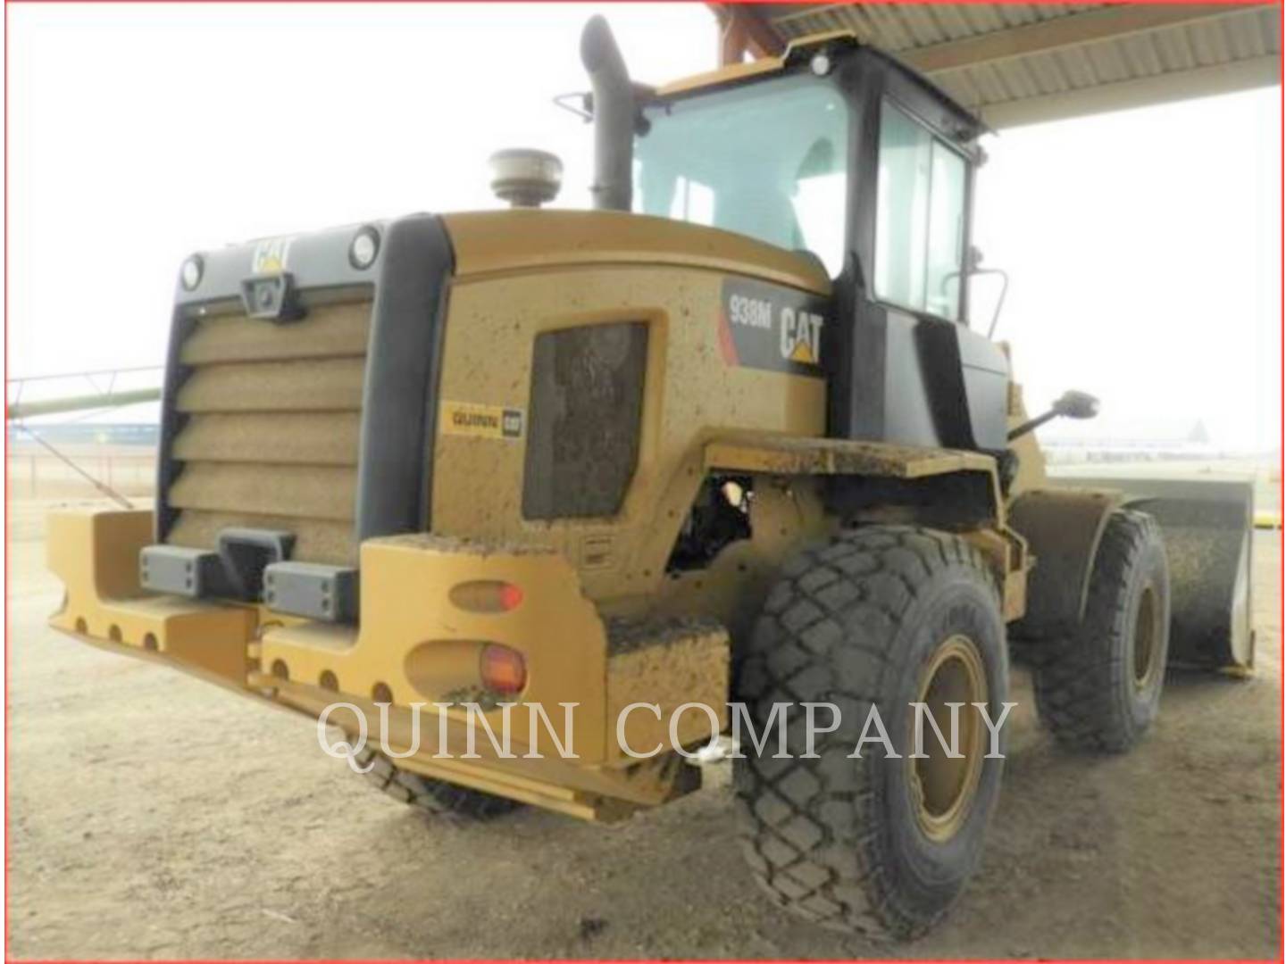
{"label": "tall dark exhaust pipe with curved tip beside the cab", "polygon": [[594,183],[601,211],[629,211],[634,194],[634,87],[612,28],[595,14],[580,35],[580,59],[594,87]]}

